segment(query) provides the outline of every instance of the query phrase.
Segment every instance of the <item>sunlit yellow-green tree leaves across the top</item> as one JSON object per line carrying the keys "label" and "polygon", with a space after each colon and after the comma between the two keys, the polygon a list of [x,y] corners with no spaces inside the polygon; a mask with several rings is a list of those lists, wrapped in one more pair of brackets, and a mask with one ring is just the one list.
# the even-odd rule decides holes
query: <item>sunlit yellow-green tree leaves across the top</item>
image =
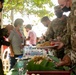
{"label": "sunlit yellow-green tree leaves across the top", "polygon": [[47,10],[46,5],[51,9],[53,3],[51,0],[5,0],[4,12],[14,9],[15,12],[21,14],[34,14],[38,17],[53,16],[53,13]]}

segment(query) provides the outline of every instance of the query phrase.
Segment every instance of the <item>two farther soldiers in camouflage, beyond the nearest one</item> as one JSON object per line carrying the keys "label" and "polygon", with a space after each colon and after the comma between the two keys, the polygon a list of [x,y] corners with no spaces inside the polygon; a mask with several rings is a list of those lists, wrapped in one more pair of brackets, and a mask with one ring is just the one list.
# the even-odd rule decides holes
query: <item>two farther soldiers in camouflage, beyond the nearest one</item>
{"label": "two farther soldiers in camouflage, beyond the nearest one", "polygon": [[[55,56],[58,58],[63,58],[64,56],[64,48],[63,45],[67,46],[68,40],[66,38],[66,32],[67,32],[67,16],[63,15],[63,11],[60,8],[60,6],[55,6],[55,15],[57,18],[55,18],[53,21],[50,21],[47,16],[43,17],[41,22],[46,26],[48,25],[48,30],[45,34],[45,40],[52,41],[53,39],[56,39],[56,43],[58,43],[60,46],[58,47],[55,53]],[[63,42],[63,43],[61,43]]]}

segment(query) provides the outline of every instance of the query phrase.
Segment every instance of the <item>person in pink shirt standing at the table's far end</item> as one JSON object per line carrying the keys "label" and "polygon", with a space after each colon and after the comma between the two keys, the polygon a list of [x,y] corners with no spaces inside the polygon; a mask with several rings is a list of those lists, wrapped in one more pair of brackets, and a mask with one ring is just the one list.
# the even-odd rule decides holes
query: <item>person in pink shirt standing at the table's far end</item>
{"label": "person in pink shirt standing at the table's far end", "polygon": [[36,45],[37,36],[36,33],[32,30],[32,26],[30,24],[25,26],[26,31],[28,32],[26,40],[29,41],[29,45]]}

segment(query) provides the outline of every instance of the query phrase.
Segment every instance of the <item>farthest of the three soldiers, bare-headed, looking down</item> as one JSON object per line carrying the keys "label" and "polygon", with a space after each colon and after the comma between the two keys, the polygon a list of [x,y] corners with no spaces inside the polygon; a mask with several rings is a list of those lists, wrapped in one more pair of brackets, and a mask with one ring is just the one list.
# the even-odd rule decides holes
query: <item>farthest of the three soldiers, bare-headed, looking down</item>
{"label": "farthest of the three soldiers, bare-headed, looking down", "polygon": [[41,19],[41,23],[47,27],[47,31],[45,33],[45,35],[42,35],[42,39],[45,39],[46,41],[50,40],[50,27],[51,27],[51,20],[48,18],[48,16],[44,16]]}

